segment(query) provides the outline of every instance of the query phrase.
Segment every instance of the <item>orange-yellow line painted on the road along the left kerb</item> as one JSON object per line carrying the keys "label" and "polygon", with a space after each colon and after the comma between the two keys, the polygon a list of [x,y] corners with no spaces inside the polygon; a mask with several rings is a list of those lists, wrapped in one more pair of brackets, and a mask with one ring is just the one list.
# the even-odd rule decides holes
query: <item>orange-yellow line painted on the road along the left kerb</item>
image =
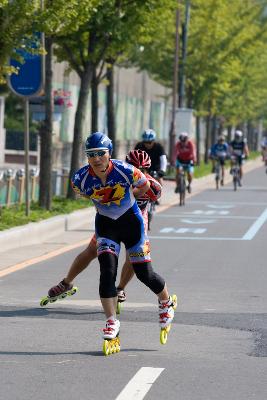
{"label": "orange-yellow line painted on the road along the left kerb", "polygon": [[11,267],[7,267],[7,268],[3,269],[2,271],[0,271],[0,278],[2,278],[3,276],[9,275],[12,272],[17,272],[17,271],[19,271],[21,269],[29,267],[30,265],[37,264],[39,262],[49,260],[50,258],[53,258],[53,257],[56,257],[56,256],[58,256],[60,254],[65,253],[66,251],[74,250],[74,249],[76,249],[78,247],[87,245],[88,243],[89,243],[89,239],[82,240],[82,241],[80,241],[78,243],[75,243],[75,244],[71,244],[71,245],[68,245],[68,246],[60,247],[60,249],[53,250],[48,254],[43,254],[41,256],[34,257],[34,258],[30,259],[30,260],[23,261],[23,262],[21,262],[19,264],[12,265]]}

